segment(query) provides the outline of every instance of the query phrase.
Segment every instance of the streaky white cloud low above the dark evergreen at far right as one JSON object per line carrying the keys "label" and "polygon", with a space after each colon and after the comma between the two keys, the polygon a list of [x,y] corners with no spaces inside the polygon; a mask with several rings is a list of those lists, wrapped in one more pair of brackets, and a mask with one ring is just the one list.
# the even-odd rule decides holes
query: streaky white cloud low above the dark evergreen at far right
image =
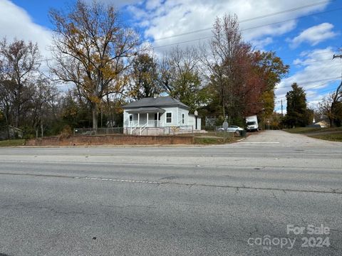
{"label": "streaky white cloud low above the dark evergreen at far right", "polygon": [[[301,58],[294,60],[293,65],[300,70],[289,78],[281,80],[276,89],[276,109],[280,109],[279,101],[283,99],[286,106],[285,95],[296,82],[306,91],[306,100],[316,104],[323,94],[333,91],[336,82],[341,81],[341,60],[332,60],[331,47],[302,52]],[[332,86],[332,87],[331,87]]]}

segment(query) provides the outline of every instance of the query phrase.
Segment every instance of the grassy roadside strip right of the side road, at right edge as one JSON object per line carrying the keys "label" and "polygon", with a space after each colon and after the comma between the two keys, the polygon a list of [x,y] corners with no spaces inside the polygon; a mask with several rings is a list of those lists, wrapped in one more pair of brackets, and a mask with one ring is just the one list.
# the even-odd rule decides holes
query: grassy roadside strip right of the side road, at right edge
{"label": "grassy roadside strip right of the side road, at right edge", "polygon": [[286,132],[294,134],[305,134],[316,139],[326,139],[333,142],[342,142],[342,127],[333,128],[311,128],[298,127],[294,129],[284,129]]}

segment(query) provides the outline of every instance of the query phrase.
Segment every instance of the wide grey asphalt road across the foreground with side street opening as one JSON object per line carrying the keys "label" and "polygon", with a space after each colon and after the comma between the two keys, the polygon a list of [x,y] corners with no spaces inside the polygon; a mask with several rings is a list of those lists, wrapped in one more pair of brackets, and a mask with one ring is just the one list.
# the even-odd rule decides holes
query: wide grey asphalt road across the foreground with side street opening
{"label": "wide grey asphalt road across the foreground with side street opening", "polygon": [[342,255],[342,144],[1,148],[0,255]]}

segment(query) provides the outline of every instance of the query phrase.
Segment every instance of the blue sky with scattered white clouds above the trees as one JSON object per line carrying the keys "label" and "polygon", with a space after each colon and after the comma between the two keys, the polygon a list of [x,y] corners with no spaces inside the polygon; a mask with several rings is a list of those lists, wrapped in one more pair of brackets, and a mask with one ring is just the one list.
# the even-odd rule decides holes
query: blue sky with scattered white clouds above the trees
{"label": "blue sky with scattered white clouds above the trees", "polygon": [[[237,14],[242,21],[244,41],[260,50],[274,50],[291,67],[289,75],[277,85],[277,112],[281,99],[285,109],[285,95],[292,82],[304,87],[311,107],[341,82],[342,60],[332,60],[333,54],[342,48],[342,2],[339,0],[100,1],[117,6],[123,20],[140,31],[155,46],[158,55],[177,43],[180,47],[205,43],[211,35],[207,28],[211,28],[216,16]],[[0,38],[38,42],[41,53],[48,58],[51,41],[48,10],[63,9],[72,3],[0,0]],[[192,33],[198,30],[203,31]]]}

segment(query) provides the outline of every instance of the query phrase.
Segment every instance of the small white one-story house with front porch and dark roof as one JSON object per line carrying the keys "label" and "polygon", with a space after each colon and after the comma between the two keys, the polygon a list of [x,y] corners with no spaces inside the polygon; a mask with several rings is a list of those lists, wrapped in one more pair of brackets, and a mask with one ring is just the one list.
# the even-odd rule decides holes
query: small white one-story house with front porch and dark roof
{"label": "small white one-story house with front porch and dark roof", "polygon": [[123,106],[126,134],[174,134],[201,130],[201,118],[173,97],[145,97]]}

